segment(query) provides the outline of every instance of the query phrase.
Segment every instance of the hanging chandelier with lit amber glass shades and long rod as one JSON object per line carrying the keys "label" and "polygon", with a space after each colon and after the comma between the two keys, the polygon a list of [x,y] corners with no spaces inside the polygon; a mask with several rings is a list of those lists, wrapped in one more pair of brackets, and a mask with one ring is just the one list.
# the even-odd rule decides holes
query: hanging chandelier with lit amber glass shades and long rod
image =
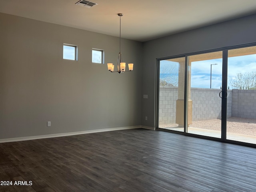
{"label": "hanging chandelier with lit amber glass shades and long rod", "polygon": [[[117,71],[114,71],[114,65],[113,63],[108,63],[108,70],[110,72],[118,72],[118,73],[123,73],[125,72],[125,62],[123,62],[122,59],[122,53],[121,53],[121,17],[124,15],[122,13],[117,14],[120,17],[120,36],[119,36],[119,54],[118,54],[118,59],[117,59]],[[133,70],[133,63],[128,64],[129,71]]]}

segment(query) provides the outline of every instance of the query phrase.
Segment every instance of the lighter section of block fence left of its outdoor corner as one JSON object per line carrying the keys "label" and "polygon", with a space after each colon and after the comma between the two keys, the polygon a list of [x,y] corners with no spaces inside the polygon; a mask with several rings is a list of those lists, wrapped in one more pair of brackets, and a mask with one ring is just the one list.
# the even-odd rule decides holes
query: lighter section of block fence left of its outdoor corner
{"label": "lighter section of block fence left of its outdoor corner", "polygon": [[[221,118],[220,89],[191,88],[192,121]],[[176,120],[178,88],[160,86],[159,124],[172,124]],[[228,90],[227,117],[232,116],[232,90]]]}

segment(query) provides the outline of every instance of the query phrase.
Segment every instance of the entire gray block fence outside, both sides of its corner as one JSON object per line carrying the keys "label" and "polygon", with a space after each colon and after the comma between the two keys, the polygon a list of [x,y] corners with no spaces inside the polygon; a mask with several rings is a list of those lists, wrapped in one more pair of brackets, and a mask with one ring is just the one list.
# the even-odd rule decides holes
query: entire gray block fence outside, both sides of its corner
{"label": "entire gray block fence outside, both sides of its corner", "polygon": [[[221,119],[221,89],[191,88],[192,121]],[[160,86],[159,125],[173,124],[176,120],[178,88]],[[256,119],[256,90],[228,90],[227,118]]]}

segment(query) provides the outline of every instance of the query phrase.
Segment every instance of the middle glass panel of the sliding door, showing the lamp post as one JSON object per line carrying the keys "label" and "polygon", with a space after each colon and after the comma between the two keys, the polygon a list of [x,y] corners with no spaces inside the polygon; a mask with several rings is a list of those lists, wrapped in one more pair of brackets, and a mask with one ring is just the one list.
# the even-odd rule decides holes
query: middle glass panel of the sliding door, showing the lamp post
{"label": "middle glass panel of the sliding door, showing the lamp post", "polygon": [[221,138],[222,51],[188,57],[188,133]]}

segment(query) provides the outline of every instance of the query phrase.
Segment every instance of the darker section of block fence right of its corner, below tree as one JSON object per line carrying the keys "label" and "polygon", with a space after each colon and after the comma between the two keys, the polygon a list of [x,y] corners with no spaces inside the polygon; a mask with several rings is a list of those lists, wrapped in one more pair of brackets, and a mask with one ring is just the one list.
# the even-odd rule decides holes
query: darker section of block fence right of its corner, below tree
{"label": "darker section of block fence right of its corner, below tree", "polygon": [[232,116],[256,119],[256,90],[233,89]]}

